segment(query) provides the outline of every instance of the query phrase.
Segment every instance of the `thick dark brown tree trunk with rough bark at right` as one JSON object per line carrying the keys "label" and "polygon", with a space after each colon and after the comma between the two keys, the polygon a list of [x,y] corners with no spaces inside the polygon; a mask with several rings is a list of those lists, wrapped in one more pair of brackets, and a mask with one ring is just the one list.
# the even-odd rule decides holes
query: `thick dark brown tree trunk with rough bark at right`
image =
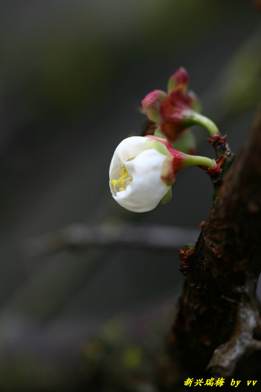
{"label": "thick dark brown tree trunk with rough bark at right", "polygon": [[170,356],[190,377],[206,368],[229,377],[238,362],[241,378],[255,371],[257,361],[260,369],[260,354],[242,366],[243,357],[261,348],[260,247],[261,107],[197,241],[169,336]]}

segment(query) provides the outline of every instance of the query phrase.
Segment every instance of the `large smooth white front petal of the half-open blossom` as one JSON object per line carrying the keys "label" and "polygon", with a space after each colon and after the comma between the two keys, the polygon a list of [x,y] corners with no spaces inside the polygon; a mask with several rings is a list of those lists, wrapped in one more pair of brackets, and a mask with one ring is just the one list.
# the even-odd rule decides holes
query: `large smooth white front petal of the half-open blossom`
{"label": "large smooth white front petal of the half-open blossom", "polygon": [[132,182],[125,191],[113,197],[124,208],[134,212],[150,211],[156,207],[169,187],[161,179],[161,170],[166,155],[155,149],[142,151],[136,158],[125,162]]}

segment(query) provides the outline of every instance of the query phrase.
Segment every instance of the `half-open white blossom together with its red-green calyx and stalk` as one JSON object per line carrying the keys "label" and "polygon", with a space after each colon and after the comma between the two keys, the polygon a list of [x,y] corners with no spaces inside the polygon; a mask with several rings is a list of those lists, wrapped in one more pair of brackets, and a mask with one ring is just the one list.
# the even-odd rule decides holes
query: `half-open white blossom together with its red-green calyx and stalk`
{"label": "half-open white blossom together with its red-green calyx and stalk", "polygon": [[171,198],[176,174],[190,165],[201,165],[214,174],[220,167],[210,158],[188,155],[156,136],[133,136],[122,140],[110,166],[114,199],[133,212],[150,211]]}

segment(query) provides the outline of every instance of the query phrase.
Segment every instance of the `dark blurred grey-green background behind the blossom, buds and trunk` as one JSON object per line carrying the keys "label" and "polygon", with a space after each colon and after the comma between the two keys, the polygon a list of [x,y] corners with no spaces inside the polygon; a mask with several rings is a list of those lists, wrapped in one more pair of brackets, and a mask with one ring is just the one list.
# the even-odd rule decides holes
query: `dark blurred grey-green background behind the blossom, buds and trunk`
{"label": "dark blurred grey-green background behind the blossom, buds and trunk", "polygon": [[257,4],[0,0],[1,391],[96,391],[123,376],[155,391],[177,249],[196,241],[213,189],[191,167],[170,203],[135,214],[110,194],[110,161],[140,134],[142,98],[180,66],[238,152],[261,98]]}

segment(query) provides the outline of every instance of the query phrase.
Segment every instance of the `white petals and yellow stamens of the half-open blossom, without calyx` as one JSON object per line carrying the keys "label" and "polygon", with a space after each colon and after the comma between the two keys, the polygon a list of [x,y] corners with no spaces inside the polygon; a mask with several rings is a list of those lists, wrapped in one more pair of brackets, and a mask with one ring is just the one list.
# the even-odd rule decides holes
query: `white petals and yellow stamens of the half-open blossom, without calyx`
{"label": "white petals and yellow stamens of the half-open blossom, without calyx", "polygon": [[152,210],[170,188],[161,178],[166,154],[152,148],[148,141],[140,136],[124,139],[110,166],[112,195],[122,207],[133,212]]}

